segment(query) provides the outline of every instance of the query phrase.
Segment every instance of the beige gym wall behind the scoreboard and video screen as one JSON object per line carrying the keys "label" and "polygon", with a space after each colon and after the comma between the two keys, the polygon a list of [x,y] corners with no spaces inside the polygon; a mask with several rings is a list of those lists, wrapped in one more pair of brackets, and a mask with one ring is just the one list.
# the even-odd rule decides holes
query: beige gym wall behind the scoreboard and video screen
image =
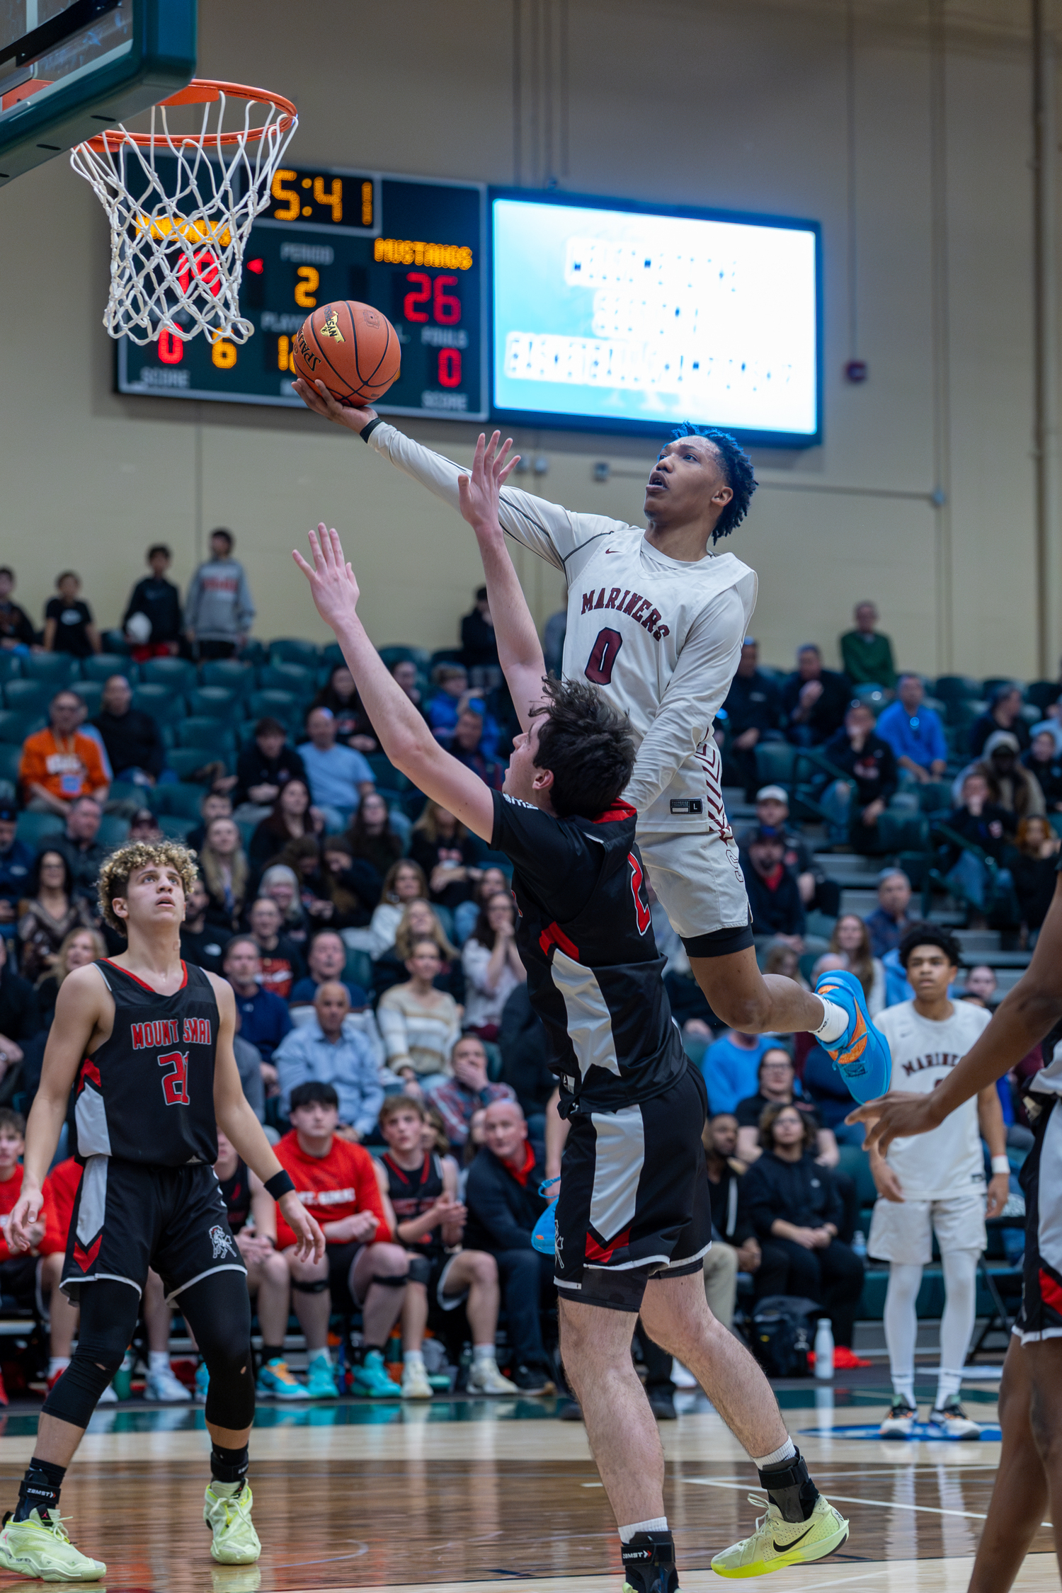
{"label": "beige gym wall behind the scoreboard and video screen", "polygon": [[[732,540],[759,570],[764,656],[788,663],[809,637],[833,655],[874,596],[904,663],[1033,675],[1029,40],[1003,0],[853,11],[849,51],[828,0],[202,0],[199,73],[291,96],[304,164],[556,175],[822,220],[826,441],[756,454],[763,486]],[[228,524],[256,634],[323,636],[290,548],[325,518],[355,551],[376,640],[451,644],[478,583],[457,516],[310,416],[116,397],[105,293],[105,220],[65,159],[0,190],[0,561],[25,605],[40,613],[73,564],[115,623],[148,540],[172,543],[185,583]],[[852,355],[863,387],[842,379]],[[409,430],[470,456],[473,427]],[[517,443],[546,457],[545,495],[640,519],[646,443]],[[521,573],[543,620],[557,577],[530,556]]]}

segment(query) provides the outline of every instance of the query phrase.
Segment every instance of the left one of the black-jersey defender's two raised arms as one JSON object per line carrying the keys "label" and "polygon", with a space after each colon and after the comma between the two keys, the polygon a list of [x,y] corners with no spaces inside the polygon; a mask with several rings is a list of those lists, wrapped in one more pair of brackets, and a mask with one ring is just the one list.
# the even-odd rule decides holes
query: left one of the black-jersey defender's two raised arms
{"label": "left one of the black-jersey defender's two raised arms", "polygon": [[384,752],[412,784],[447,808],[460,822],[489,841],[494,833],[494,798],[478,774],[446,752],[406,693],[390,677],[358,618],[358,583],[346,562],[339,535],[320,524],[309,534],[312,564],[293,550],[306,575],[317,612],[336,632],[353,675],[365,712]]}

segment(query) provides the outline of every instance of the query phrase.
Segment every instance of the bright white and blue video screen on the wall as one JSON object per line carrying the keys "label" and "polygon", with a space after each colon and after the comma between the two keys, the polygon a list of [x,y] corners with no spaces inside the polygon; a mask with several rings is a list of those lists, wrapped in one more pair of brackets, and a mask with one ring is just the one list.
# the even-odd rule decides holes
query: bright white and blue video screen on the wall
{"label": "bright white and blue video screen on the wall", "polygon": [[818,228],[492,196],[492,405],[510,422],[818,441]]}

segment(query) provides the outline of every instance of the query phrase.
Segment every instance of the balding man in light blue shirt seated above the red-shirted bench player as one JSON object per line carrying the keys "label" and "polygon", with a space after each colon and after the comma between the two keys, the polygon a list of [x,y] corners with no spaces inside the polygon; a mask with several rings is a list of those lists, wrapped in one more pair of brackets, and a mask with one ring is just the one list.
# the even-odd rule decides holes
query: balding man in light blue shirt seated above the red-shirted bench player
{"label": "balding man in light blue shirt seated above the red-shirted bench player", "polygon": [[328,1083],[339,1101],[336,1133],[365,1139],[376,1128],[384,1085],[376,1056],[357,1029],[344,1027],[350,994],[339,980],[325,980],[314,992],[314,1018],[283,1037],[272,1061],[280,1085],[280,1112],[288,1115],[291,1091],[307,1080]]}

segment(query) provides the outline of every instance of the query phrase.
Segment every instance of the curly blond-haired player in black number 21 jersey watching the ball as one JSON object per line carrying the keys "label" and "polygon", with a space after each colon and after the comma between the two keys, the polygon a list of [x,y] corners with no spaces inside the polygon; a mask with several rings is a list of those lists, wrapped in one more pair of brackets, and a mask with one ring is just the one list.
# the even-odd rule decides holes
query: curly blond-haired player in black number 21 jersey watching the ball
{"label": "curly blond-haired player in black number 21 jersey watching the ball", "polygon": [[107,859],[100,910],[129,949],[62,981],[25,1128],[22,1193],[8,1227],[14,1252],[29,1249],[76,1078],[84,1171],[61,1287],[81,1306],[81,1330],[45,1400],[19,1502],[0,1532],[0,1564],[25,1577],[96,1582],[107,1571],[67,1537],[59,1489],[134,1335],[150,1266],[169,1298],[180,1298],[210,1372],[210,1553],[225,1564],[261,1553],[247,1483],[255,1416],[247,1271],[213,1174],[218,1128],[280,1204],[296,1254],[320,1260],[325,1241],[244,1099],[231,986],[182,962],[194,879],[193,854],[174,841],[137,841]]}

